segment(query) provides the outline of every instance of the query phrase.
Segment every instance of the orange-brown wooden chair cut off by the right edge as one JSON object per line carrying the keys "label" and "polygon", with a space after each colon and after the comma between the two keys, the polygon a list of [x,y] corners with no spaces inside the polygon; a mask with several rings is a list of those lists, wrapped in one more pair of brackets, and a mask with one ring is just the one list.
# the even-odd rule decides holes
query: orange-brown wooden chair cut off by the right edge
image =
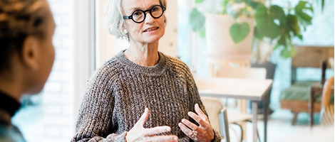
{"label": "orange-brown wooden chair cut off by the right edge", "polygon": [[[333,94],[332,99],[331,93]],[[334,102],[331,104],[331,100],[334,100],[334,77],[326,81],[322,90],[320,113],[320,122],[322,125],[331,124],[331,126],[334,126]]]}

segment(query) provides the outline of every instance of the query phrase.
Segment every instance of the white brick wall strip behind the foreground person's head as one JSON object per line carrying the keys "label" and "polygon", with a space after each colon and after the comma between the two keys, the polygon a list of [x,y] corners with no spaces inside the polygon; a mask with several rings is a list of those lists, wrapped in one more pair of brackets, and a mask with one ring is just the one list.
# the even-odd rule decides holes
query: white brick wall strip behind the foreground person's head
{"label": "white brick wall strip behind the foreground person's head", "polygon": [[73,0],[48,0],[56,22],[56,60],[43,90],[43,141],[73,136]]}

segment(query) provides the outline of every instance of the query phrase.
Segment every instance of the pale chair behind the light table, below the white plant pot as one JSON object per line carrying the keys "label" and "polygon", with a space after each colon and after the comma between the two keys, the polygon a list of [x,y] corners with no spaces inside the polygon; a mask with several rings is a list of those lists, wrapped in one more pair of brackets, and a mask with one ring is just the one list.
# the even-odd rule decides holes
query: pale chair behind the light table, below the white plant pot
{"label": "pale chair behind the light table, below the white plant pot", "polygon": [[[267,70],[262,67],[221,67],[212,72],[215,77],[230,77],[230,78],[248,78],[253,80],[265,80]],[[226,103],[227,104],[227,103]],[[245,100],[241,100],[240,111],[242,113],[228,111],[228,123],[237,124],[241,128],[241,141],[243,139],[243,129],[238,123],[250,121],[251,114],[247,114],[247,104]],[[257,132],[258,133],[258,132]]]}

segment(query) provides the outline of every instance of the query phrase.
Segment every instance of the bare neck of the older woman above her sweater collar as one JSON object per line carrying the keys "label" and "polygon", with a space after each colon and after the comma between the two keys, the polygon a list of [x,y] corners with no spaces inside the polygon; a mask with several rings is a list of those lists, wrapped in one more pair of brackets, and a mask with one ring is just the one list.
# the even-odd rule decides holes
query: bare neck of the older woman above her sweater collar
{"label": "bare neck of the older woman above her sweater collar", "polygon": [[125,50],[125,58],[138,65],[154,66],[159,60],[158,42],[150,44],[132,44]]}

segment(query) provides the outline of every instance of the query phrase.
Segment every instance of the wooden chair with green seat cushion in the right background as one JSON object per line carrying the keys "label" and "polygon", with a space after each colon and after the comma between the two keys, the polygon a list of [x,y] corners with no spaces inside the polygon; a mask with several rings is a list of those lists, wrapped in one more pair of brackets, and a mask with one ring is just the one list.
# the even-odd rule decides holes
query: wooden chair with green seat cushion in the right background
{"label": "wooden chair with green seat cushion in the right background", "polygon": [[[310,87],[321,80],[298,80],[297,69],[298,68],[324,68],[321,70],[323,73],[320,78],[324,78],[324,72],[326,67],[320,67],[321,62],[333,57],[334,58],[334,47],[326,46],[296,46],[297,53],[292,57],[291,63],[291,87],[283,89],[280,94],[280,104],[282,109],[289,109],[294,114],[292,119],[292,125],[297,121],[297,116],[300,112],[309,112],[309,95],[311,93]],[[329,66],[328,66],[329,67]],[[320,83],[319,83],[320,84]],[[313,94],[312,96],[321,96],[319,94]],[[316,102],[313,103],[313,111],[319,112],[320,97],[316,98]],[[312,119],[312,118],[311,118]]]}

